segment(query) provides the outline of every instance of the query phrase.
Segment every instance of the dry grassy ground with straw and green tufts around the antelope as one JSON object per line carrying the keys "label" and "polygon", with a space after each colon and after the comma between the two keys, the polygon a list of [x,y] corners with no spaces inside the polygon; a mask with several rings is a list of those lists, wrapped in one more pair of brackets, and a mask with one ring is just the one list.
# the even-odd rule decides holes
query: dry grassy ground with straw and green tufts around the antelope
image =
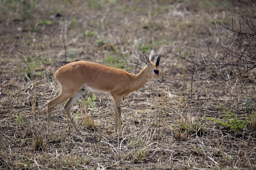
{"label": "dry grassy ground with straw and green tufts around the antelope", "polygon": [[[221,55],[215,22],[231,24],[239,17],[234,8],[246,9],[237,5],[247,2],[1,0],[0,169],[256,169],[256,134],[249,128],[255,69],[243,82],[209,88],[215,84],[209,74],[218,70],[198,67],[192,83],[193,65],[167,54],[186,48]],[[256,23],[255,10],[246,15]],[[91,93],[72,109],[81,136],[64,104],[53,110],[47,133],[59,67],[85,60],[137,74],[145,66],[138,51],[151,49],[162,54],[165,82],[150,80],[122,99],[122,138],[114,131],[111,96]]]}

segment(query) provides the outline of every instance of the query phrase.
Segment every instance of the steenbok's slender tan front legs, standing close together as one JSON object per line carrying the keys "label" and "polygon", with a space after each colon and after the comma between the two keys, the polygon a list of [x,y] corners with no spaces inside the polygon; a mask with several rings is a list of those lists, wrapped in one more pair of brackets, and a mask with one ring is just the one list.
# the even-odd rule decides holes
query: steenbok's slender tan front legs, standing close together
{"label": "steenbok's slender tan front legs, standing close together", "polygon": [[[121,97],[113,96],[113,102],[115,104],[115,131],[118,133],[120,137],[122,137],[122,122],[121,122]],[[118,131],[117,131],[118,126]]]}

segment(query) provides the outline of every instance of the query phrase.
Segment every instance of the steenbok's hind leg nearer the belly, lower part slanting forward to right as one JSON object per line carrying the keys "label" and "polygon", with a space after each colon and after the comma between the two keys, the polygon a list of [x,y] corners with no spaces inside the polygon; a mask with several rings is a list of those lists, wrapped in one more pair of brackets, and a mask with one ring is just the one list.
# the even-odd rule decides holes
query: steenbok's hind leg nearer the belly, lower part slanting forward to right
{"label": "steenbok's hind leg nearer the belly, lower part slanting forward to right", "polygon": [[72,98],[70,98],[67,103],[64,105],[64,109],[66,111],[67,117],[68,119],[70,119],[70,121],[72,122],[73,127],[75,128],[76,132],[81,135],[81,131],[79,130],[78,125],[76,124],[76,121],[73,119],[72,115],[71,115],[71,107],[74,105],[74,103],[76,103],[78,101],[78,99],[81,97],[82,94],[84,94],[84,88],[81,88],[78,93],[73,96]]}

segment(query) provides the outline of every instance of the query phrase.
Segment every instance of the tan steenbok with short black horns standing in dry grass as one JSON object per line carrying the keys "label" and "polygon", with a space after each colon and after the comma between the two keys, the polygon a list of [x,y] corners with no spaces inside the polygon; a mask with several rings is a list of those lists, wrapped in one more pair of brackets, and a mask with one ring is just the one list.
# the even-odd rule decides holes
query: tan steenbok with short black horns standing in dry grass
{"label": "tan steenbok with short black horns standing in dry grass", "polygon": [[[108,67],[95,62],[77,61],[62,66],[56,71],[54,77],[57,80],[61,93],[48,103],[47,107],[47,129],[51,132],[51,113],[52,109],[67,101],[64,105],[68,119],[72,122],[76,132],[81,135],[78,125],[71,115],[71,107],[85,91],[92,93],[107,94],[113,97],[115,104],[115,131],[121,134],[121,99],[128,96],[131,92],[141,88],[148,79],[153,78],[158,82],[163,82],[163,74],[159,68],[161,54],[154,63],[156,54],[151,50],[149,59],[141,51],[139,57],[146,66],[139,74],[130,74],[118,68]],[[118,130],[117,130],[118,129]]]}

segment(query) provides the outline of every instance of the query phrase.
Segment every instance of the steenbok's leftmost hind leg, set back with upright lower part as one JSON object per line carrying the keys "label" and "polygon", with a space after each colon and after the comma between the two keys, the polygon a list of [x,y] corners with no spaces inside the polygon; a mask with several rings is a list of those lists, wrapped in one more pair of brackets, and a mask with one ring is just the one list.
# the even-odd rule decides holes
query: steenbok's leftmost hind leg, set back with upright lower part
{"label": "steenbok's leftmost hind leg, set back with upright lower part", "polygon": [[48,131],[48,133],[51,133],[51,131],[52,131],[52,122],[51,122],[52,121],[52,109],[56,105],[59,105],[62,102],[65,102],[70,97],[72,97],[72,96],[68,95],[68,94],[61,93],[60,95],[58,95],[57,97],[55,97],[54,99],[52,99],[51,101],[48,102],[48,106],[47,106],[47,131]]}

